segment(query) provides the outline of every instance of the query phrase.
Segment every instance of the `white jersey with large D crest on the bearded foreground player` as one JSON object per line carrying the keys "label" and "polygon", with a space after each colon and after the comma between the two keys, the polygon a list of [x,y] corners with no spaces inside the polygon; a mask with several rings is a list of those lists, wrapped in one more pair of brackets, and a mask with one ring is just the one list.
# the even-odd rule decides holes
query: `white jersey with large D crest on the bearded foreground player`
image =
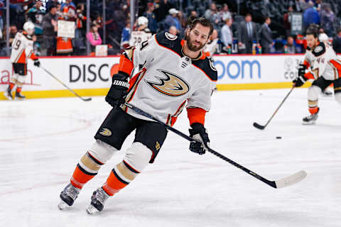
{"label": "white jersey with large D crest on the bearded foreground player", "polygon": [[[126,101],[159,120],[173,125],[183,108],[209,111],[217,82],[213,62],[201,52],[196,59],[183,54],[185,40],[158,33],[137,46],[131,54],[132,67],[144,65],[129,81]],[[150,121],[128,108],[136,118]]]}

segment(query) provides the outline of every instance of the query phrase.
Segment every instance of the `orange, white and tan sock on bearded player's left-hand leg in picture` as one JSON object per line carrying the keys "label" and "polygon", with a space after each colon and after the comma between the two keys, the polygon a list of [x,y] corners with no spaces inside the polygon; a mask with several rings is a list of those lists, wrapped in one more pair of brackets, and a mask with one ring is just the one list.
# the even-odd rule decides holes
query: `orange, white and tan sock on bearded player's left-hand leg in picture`
{"label": "orange, white and tan sock on bearded player's left-hand leg in picture", "polygon": [[95,157],[87,152],[77,164],[75,171],[70,179],[73,186],[82,189],[90,179],[97,175],[99,168],[104,163],[99,162]]}

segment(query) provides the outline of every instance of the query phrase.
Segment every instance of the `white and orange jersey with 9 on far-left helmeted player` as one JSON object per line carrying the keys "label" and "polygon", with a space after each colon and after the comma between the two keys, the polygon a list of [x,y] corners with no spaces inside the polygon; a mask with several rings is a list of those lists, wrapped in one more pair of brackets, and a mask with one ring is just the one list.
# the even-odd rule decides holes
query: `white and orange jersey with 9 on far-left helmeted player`
{"label": "white and orange jersey with 9 on far-left helmeted player", "polygon": [[16,36],[12,43],[11,62],[26,64],[26,58],[36,59],[36,55],[33,53],[33,40],[31,35],[26,32],[16,33]]}

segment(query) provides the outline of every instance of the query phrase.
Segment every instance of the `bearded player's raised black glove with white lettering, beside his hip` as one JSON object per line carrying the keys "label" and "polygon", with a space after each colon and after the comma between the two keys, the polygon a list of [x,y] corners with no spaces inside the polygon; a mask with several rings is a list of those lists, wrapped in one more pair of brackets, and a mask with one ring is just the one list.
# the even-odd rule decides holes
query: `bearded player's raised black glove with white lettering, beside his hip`
{"label": "bearded player's raised black glove with white lettering, beside his hip", "polygon": [[110,87],[105,101],[112,107],[119,106],[124,103],[127,91],[129,89],[128,75],[122,72],[112,76],[112,87]]}

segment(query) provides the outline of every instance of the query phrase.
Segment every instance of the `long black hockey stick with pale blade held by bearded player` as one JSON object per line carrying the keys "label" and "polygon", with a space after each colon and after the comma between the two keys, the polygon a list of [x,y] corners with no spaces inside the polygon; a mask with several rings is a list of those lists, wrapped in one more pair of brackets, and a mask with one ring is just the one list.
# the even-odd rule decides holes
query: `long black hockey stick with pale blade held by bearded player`
{"label": "long black hockey stick with pale blade held by bearded player", "polygon": [[[173,133],[180,135],[182,138],[185,138],[186,140],[193,142],[195,141],[193,138],[190,138],[190,136],[185,135],[184,133],[178,131],[177,129],[168,126],[166,123],[163,123],[162,121],[158,120],[157,118],[151,116],[151,114],[146,113],[145,111],[137,108],[136,106],[133,106],[131,104],[125,103],[124,106],[129,107],[130,109],[134,110],[136,113],[141,114],[142,116],[146,116],[147,118],[153,119],[154,121],[161,123],[161,125],[165,126],[168,130],[172,131]],[[209,148],[208,150],[213,155],[216,155],[217,157],[220,157],[222,160],[229,162],[229,164],[234,165],[235,167],[239,168],[240,170],[243,170],[244,172],[247,172],[252,177],[256,177],[256,179],[259,179],[261,182],[264,182],[271,187],[281,188],[281,187],[287,187],[291,184],[295,184],[297,182],[300,182],[302,179],[304,179],[307,176],[307,173],[304,170],[301,170],[300,172],[296,172],[295,174],[285,177],[283,179],[278,179],[276,181],[270,181],[269,179],[265,179],[264,177],[261,177],[260,175],[257,175],[255,172],[252,172],[251,170],[248,170],[246,167],[239,165],[237,162],[234,162],[230,160],[229,158],[225,157],[224,155],[217,153],[215,150],[212,150]]]}

